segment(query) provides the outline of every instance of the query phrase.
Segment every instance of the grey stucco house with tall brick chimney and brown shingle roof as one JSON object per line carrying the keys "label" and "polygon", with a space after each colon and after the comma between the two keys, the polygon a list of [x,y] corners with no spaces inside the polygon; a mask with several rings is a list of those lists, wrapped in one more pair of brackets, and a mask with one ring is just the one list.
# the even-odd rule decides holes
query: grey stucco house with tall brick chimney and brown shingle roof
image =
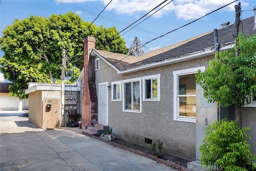
{"label": "grey stucco house with tall brick chimney and brown shingle roof", "polygon": [[[254,17],[242,21],[239,33],[254,35]],[[220,50],[234,46],[234,25],[218,29]],[[163,141],[163,149],[191,161],[200,159],[198,145],[204,127],[212,119],[233,113],[202,97],[195,74],[214,59],[214,32],[154,50],[128,56],[96,50],[95,38],[84,40],[84,70],[80,75],[82,128],[94,124],[113,127],[120,139],[140,145]],[[256,153],[256,103],[243,107],[243,124],[251,128],[252,152]],[[232,117],[232,115],[230,115]],[[200,130],[203,131],[200,132]]]}

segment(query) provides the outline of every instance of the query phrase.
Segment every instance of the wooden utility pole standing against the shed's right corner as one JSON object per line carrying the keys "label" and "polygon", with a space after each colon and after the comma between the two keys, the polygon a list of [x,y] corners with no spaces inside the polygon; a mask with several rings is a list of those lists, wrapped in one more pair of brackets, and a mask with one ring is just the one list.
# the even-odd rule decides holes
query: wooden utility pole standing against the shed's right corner
{"label": "wooden utility pole standing against the shed's right corner", "polygon": [[62,117],[64,116],[64,102],[65,102],[65,70],[66,70],[66,50],[62,49],[62,82],[61,82],[61,114],[60,114],[60,128]]}

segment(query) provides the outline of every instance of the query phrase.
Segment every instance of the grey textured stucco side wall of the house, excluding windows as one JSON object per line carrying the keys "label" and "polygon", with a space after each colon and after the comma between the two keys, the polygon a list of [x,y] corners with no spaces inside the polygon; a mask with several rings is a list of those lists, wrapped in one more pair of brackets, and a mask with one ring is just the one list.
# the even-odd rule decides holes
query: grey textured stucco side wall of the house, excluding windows
{"label": "grey textured stucco side wall of the house, excluding windows", "polygon": [[[160,101],[142,101],[141,98],[142,113],[123,112],[122,101],[111,101],[111,90],[108,91],[108,125],[114,126],[114,135],[140,145],[145,145],[145,137],[152,138],[153,142],[159,138],[163,141],[164,151],[195,160],[196,123],[173,120],[172,72],[207,66],[210,59],[212,57],[204,57],[124,75],[118,75],[112,67],[96,71],[97,92],[98,84],[102,82],[110,85],[114,81],[160,74]],[[108,64],[100,60],[100,68],[107,66]],[[142,89],[142,93],[143,91]]]}

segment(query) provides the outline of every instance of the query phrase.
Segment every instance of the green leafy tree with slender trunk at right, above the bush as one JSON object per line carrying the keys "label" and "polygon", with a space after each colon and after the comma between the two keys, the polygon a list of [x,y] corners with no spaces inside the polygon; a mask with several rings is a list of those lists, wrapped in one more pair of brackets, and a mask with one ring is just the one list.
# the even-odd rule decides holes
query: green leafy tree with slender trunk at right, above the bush
{"label": "green leafy tree with slender trunk at right, above the bush", "polygon": [[[197,72],[196,82],[208,102],[235,105],[236,121],[242,127],[241,107],[249,103],[256,92],[256,35],[239,34],[237,40],[238,45],[231,52],[216,53],[206,70]],[[236,49],[239,50],[237,57]]]}

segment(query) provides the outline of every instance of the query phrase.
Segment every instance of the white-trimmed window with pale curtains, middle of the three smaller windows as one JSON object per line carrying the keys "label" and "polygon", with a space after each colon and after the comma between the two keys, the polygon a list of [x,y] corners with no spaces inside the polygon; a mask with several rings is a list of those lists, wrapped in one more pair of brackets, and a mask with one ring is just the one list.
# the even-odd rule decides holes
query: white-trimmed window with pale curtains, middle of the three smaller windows
{"label": "white-trimmed window with pale curtains, middle of the three smaller windows", "polygon": [[122,81],[123,111],[141,113],[141,78]]}

